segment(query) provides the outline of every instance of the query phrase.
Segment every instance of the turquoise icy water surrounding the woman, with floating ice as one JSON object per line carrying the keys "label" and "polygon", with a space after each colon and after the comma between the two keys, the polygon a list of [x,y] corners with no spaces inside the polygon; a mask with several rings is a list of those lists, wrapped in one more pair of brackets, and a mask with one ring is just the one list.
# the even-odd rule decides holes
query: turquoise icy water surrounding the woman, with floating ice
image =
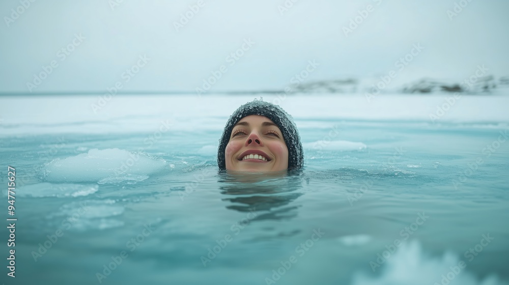
{"label": "turquoise icy water surrounding the woman, with floating ice", "polygon": [[[217,126],[231,111],[200,113],[187,124],[179,116],[135,113],[102,129],[88,119],[6,120],[1,180],[7,185],[7,166],[15,167],[16,278],[5,277],[4,266],[2,281],[509,280],[506,122],[294,115],[304,146],[301,172],[232,176],[218,172],[215,157]],[[147,116],[159,123],[130,123]],[[8,239],[6,231],[2,236]],[[7,257],[6,244],[2,250]]]}

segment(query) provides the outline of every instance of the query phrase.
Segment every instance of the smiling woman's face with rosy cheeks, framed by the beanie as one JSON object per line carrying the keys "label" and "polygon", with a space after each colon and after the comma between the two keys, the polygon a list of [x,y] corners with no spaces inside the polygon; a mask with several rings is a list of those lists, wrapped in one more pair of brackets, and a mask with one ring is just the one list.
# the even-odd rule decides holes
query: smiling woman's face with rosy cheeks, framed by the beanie
{"label": "smiling woman's face with rosy cheeks, framed by the beanie", "polygon": [[233,127],[224,158],[228,170],[273,172],[288,169],[285,138],[279,127],[263,116],[246,116]]}

